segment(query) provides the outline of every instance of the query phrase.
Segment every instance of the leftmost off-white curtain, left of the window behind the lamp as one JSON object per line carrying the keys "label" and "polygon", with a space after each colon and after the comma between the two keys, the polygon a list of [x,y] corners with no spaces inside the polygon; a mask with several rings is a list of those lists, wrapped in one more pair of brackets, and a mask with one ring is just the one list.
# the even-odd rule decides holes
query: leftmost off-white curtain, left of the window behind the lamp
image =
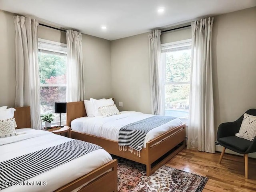
{"label": "leftmost off-white curtain, left of the window behind the lamp", "polygon": [[40,127],[40,82],[38,70],[38,21],[14,16],[16,51],[15,106],[30,106],[31,126]]}

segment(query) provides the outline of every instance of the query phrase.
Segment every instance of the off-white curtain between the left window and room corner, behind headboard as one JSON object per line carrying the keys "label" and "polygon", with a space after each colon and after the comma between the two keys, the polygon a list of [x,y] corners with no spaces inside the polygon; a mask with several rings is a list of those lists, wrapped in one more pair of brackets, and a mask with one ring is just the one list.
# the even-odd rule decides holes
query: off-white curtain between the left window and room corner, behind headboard
{"label": "off-white curtain between the left window and room corner, behind headboard", "polygon": [[67,30],[67,102],[85,100],[82,34]]}

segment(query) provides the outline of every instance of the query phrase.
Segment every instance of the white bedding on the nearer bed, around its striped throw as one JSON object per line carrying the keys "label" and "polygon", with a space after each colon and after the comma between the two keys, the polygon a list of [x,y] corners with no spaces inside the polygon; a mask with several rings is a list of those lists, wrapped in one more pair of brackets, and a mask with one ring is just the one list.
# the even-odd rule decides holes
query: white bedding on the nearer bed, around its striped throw
{"label": "white bedding on the nearer bed, around its striped throw", "polygon": [[[16,132],[18,136],[0,139],[0,162],[72,140],[42,130],[26,128]],[[46,186],[16,185],[5,188],[2,192],[52,192],[111,160],[112,157],[105,150],[95,150],[25,181],[46,181]]]}

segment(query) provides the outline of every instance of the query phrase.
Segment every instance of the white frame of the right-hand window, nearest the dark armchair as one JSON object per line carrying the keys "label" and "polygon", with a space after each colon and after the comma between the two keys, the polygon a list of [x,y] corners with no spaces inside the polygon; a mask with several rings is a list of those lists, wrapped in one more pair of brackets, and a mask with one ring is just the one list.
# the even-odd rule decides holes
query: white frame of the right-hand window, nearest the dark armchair
{"label": "white frame of the right-hand window, nearest the dark armchair", "polygon": [[[187,85],[189,84],[190,85],[190,81],[183,81],[183,82],[166,82],[166,53],[165,54],[162,54],[164,51],[163,49],[165,47],[172,47],[172,49],[175,49],[178,51],[178,50],[188,50],[189,48],[187,49],[180,49],[182,47],[185,47],[185,46],[182,46],[182,44],[186,45],[186,44],[192,44],[192,39],[186,39],[186,40],[180,40],[180,41],[175,41],[175,42],[170,42],[170,43],[164,43],[164,44],[161,44],[161,70],[162,70],[162,78],[161,78],[161,84],[162,84],[162,112],[163,114],[165,115],[165,85]],[[191,47],[192,45],[190,45]],[[169,52],[172,52],[172,51],[169,51]],[[183,123],[185,123],[186,125],[188,125],[188,118],[179,118],[180,120],[182,120]]]}

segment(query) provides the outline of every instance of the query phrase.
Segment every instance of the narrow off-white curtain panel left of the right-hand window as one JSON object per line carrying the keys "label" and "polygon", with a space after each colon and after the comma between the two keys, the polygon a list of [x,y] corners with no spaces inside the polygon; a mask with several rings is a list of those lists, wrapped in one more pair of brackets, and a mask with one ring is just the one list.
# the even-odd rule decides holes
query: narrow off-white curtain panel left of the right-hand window
{"label": "narrow off-white curtain panel left of the right-hand window", "polygon": [[161,67],[161,31],[153,30],[148,33],[149,38],[149,65],[151,86],[151,112],[162,115],[162,67]]}

